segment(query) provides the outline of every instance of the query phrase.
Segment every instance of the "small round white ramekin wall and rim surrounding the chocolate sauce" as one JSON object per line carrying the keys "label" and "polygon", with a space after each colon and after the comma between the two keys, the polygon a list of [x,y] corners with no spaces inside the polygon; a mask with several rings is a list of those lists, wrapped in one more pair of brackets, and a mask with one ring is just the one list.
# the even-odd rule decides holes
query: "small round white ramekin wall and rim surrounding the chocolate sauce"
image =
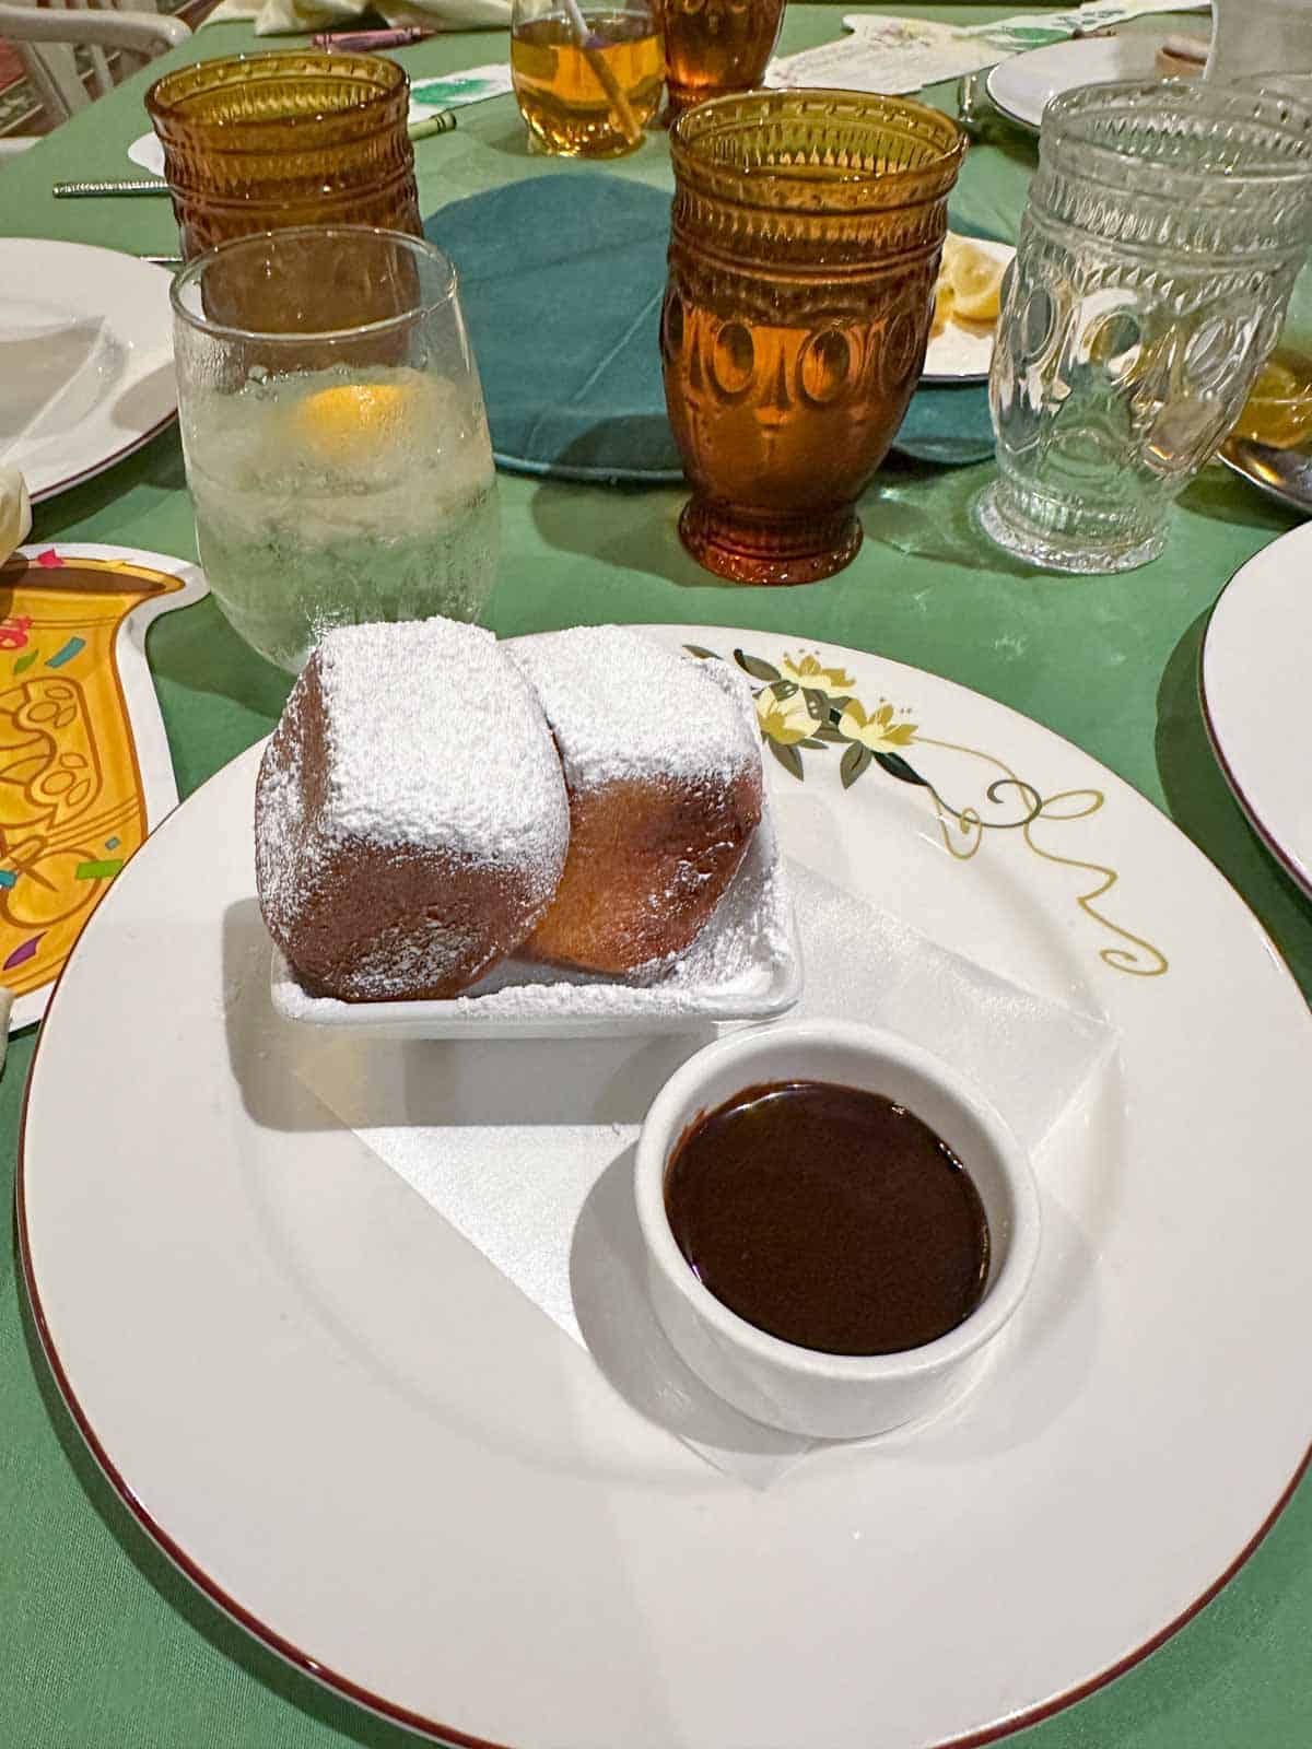
{"label": "small round white ramekin wall and rim surrounding the chocolate sauce", "polygon": [[[882,1093],[924,1119],[962,1161],[988,1219],[990,1263],[980,1305],[946,1336],[901,1354],[820,1354],[749,1324],[693,1273],[665,1212],[670,1156],[703,1112],[768,1081]],[[875,1027],[782,1021],[689,1056],[642,1125],[635,1191],[653,1305],[675,1350],[743,1415],[820,1439],[887,1432],[939,1408],[1020,1305],[1039,1254],[1039,1191],[1011,1128],[946,1063]]]}

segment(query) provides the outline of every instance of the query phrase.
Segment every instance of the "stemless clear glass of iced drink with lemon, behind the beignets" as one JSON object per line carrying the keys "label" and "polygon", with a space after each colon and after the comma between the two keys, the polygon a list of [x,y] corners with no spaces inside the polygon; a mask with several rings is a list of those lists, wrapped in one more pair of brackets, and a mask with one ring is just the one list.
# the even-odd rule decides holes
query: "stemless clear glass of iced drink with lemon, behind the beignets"
{"label": "stemless clear glass of iced drink with lemon, behind the beignets", "polygon": [[196,544],[289,672],[329,626],[478,619],[497,484],[451,262],[394,231],[241,238],[173,282]]}

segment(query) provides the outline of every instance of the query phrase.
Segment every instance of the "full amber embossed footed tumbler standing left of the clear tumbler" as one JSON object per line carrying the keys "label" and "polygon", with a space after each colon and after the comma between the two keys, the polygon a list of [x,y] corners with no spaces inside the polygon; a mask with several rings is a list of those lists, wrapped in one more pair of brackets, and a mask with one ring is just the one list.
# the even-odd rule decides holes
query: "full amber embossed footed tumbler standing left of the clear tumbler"
{"label": "full amber embossed footed tumbler standing left of the clear tumbler", "polygon": [[855,556],[920,376],[966,136],[906,98],[757,91],[687,110],[670,150],[679,532],[721,577],[815,582]]}

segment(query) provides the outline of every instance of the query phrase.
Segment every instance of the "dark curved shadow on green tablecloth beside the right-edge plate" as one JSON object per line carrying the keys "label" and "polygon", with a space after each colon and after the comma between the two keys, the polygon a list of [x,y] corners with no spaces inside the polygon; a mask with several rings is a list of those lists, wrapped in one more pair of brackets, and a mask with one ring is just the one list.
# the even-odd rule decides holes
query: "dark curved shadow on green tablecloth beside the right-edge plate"
{"label": "dark curved shadow on green tablecloth beside the right-edge plate", "polygon": [[1216,763],[1198,696],[1198,661],[1211,609],[1200,614],[1170,652],[1156,694],[1156,768],[1170,817],[1239,888],[1286,953],[1300,944],[1302,969],[1291,965],[1312,993],[1307,964],[1312,901],[1263,847]]}

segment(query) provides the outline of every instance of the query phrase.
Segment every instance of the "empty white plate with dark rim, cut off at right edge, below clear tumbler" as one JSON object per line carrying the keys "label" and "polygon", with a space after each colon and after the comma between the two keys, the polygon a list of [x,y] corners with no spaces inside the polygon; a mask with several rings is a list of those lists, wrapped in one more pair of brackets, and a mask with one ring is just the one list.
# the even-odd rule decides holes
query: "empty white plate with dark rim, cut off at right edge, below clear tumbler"
{"label": "empty white plate with dark rim, cut off at right edge, below clear tumbler", "polygon": [[1312,525],[1240,565],[1207,623],[1200,682],[1226,782],[1272,855],[1312,894],[1309,567]]}

